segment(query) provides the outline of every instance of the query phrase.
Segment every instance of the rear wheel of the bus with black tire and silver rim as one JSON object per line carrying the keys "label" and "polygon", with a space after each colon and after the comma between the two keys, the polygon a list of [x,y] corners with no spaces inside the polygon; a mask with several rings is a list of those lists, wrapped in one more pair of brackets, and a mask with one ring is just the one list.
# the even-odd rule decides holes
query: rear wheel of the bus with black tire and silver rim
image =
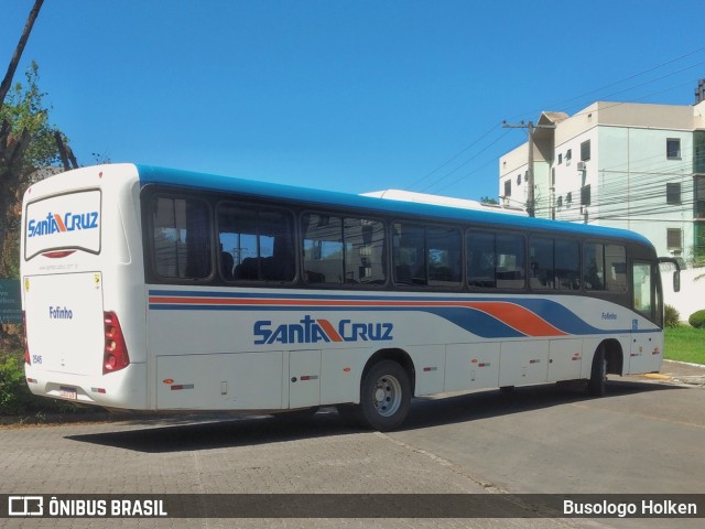
{"label": "rear wheel of the bus with black tire and silver rim", "polygon": [[387,432],[399,428],[411,407],[409,374],[393,360],[375,364],[362,379],[358,418],[365,427]]}

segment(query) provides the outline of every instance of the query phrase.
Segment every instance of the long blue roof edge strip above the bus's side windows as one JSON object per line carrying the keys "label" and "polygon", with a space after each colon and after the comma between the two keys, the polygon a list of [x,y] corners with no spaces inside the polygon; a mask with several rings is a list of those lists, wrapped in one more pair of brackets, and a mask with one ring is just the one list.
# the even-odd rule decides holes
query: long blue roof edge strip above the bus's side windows
{"label": "long blue roof edge strip above the bus's side windows", "polygon": [[162,184],[187,187],[189,190],[229,192],[252,197],[303,202],[313,206],[351,207],[378,212],[379,214],[417,215],[514,229],[550,230],[564,235],[595,238],[621,238],[653,246],[642,235],[627,229],[507,215],[487,210],[463,209],[419,202],[389,201],[373,196],[272,184],[235,176],[196,173],[152,165],[137,165],[137,169],[141,185]]}

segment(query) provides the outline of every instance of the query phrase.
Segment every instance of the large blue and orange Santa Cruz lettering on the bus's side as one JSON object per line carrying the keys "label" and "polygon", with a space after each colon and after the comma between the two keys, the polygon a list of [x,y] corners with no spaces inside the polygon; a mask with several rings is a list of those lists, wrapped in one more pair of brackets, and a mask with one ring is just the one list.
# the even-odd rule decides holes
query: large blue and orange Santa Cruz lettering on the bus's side
{"label": "large blue and orange Santa Cruz lettering on the bus's side", "polygon": [[392,339],[394,325],[389,322],[364,323],[329,320],[306,314],[299,323],[273,325],[270,320],[254,322],[254,344],[315,344],[317,342],[381,342]]}

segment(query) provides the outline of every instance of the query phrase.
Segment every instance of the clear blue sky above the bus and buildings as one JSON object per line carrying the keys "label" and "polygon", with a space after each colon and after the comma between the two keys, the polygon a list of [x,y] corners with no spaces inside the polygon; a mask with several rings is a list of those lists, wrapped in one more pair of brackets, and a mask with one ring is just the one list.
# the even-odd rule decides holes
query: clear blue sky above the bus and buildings
{"label": "clear blue sky above the bus and buildings", "polygon": [[[33,0],[0,0],[2,75]],[[502,122],[692,105],[702,0],[45,0],[30,62],[82,165],[497,198]]]}

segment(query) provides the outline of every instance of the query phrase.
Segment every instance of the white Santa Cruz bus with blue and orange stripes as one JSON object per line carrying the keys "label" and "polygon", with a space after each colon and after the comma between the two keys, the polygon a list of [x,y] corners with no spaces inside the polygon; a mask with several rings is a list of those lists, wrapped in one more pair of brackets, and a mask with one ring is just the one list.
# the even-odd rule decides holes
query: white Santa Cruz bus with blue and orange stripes
{"label": "white Santa Cruz bus with blue and orange stripes", "polygon": [[108,409],[337,406],[658,371],[659,259],[633,233],[132,164],[23,203],[32,392]]}

